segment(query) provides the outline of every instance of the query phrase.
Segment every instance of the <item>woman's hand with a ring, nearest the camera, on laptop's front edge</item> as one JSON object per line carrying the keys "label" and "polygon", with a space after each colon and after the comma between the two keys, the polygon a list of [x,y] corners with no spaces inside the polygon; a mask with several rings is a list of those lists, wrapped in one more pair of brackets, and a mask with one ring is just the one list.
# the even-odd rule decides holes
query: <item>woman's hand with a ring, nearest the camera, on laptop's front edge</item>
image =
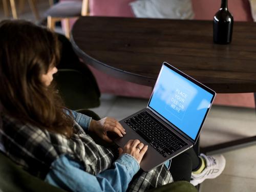
{"label": "woman's hand with a ring, nearest the camera, on laptop's front edge", "polygon": [[140,163],[147,151],[147,147],[147,145],[144,145],[138,139],[129,140],[123,149],[119,148],[119,155],[124,153],[130,154]]}

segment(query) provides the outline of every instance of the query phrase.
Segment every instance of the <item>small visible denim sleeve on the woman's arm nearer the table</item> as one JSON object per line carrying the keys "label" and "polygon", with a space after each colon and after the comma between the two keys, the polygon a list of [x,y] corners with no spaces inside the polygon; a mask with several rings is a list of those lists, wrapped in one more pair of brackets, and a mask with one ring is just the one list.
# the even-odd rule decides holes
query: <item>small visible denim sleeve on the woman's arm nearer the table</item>
{"label": "small visible denim sleeve on the woman's arm nearer the table", "polygon": [[82,129],[85,132],[88,132],[92,117],[89,117],[87,115],[84,115],[84,114],[81,114],[81,113],[78,113],[78,112],[75,112],[75,111],[72,111],[72,110],[70,110],[70,111],[71,111],[72,114],[70,114],[68,110],[65,110],[65,112],[69,116],[74,117],[74,120],[82,127]]}

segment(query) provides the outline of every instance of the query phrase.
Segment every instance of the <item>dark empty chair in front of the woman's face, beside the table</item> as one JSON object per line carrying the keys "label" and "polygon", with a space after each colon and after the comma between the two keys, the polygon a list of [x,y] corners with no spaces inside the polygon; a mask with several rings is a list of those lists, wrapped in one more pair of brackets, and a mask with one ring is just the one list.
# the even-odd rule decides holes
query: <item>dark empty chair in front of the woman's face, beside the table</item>
{"label": "dark empty chair in front of the woman's face, beside the table", "polygon": [[65,36],[58,34],[60,61],[54,75],[57,89],[65,105],[71,110],[95,108],[100,104],[100,91],[94,75],[73,51]]}

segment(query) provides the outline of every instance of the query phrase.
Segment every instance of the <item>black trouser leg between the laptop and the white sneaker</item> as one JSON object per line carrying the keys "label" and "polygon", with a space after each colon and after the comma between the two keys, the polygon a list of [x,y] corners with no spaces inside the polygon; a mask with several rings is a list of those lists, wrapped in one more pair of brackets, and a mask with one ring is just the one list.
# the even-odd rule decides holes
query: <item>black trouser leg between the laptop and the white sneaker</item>
{"label": "black trouser leg between the laptop and the white sneaker", "polygon": [[190,181],[191,172],[197,170],[202,164],[196,152],[198,152],[198,143],[172,159],[169,170],[174,181]]}

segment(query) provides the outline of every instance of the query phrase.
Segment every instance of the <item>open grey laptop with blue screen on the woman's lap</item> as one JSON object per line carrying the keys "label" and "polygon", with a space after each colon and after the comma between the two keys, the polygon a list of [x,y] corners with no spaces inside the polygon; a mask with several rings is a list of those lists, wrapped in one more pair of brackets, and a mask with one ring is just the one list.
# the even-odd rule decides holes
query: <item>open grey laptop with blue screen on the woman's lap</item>
{"label": "open grey laptop with blue screen on the woman's lap", "polygon": [[164,62],[145,109],[120,121],[130,139],[148,145],[140,166],[145,172],[183,153],[197,142],[216,93]]}

